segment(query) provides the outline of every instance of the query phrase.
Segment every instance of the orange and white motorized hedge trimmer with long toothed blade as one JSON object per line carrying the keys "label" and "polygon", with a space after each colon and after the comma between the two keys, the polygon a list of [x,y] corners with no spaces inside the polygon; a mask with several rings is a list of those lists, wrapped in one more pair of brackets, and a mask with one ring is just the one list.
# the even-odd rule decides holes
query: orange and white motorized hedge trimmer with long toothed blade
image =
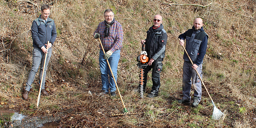
{"label": "orange and white motorized hedge trimmer with long toothed blade", "polygon": [[140,97],[143,98],[143,92],[145,90],[143,90],[143,85],[145,84],[143,81],[143,78],[144,78],[144,69],[143,68],[146,68],[148,65],[146,64],[148,62],[148,57],[147,57],[147,52],[145,51],[145,44],[143,43],[142,44],[142,48],[141,48],[141,52],[140,52],[140,56],[137,57],[137,61],[139,62],[137,64],[137,66],[140,68],[140,83],[139,83],[139,89],[140,91]]}

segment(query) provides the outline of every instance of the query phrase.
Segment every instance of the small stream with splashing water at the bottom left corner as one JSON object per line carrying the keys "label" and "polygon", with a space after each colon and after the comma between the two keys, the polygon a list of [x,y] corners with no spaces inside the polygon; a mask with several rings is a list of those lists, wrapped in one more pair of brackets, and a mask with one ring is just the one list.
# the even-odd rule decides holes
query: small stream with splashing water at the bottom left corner
{"label": "small stream with splashing water at the bottom left corner", "polygon": [[[4,119],[4,125],[7,128],[54,128],[59,126],[60,117],[64,113],[58,113],[58,116],[41,115],[41,116],[26,116],[17,113],[14,109],[0,108],[0,119]],[[8,123],[10,118],[10,122]]]}

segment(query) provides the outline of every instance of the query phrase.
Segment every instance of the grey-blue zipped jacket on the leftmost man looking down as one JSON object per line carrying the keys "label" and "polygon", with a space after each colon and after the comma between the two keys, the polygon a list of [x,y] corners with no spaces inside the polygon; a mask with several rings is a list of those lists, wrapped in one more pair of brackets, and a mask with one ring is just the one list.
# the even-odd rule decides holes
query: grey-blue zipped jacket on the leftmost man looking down
{"label": "grey-blue zipped jacket on the leftmost man looking down", "polygon": [[33,47],[46,47],[48,41],[54,43],[57,32],[55,23],[51,18],[47,19],[47,23],[44,23],[44,20],[41,18],[41,15],[33,21],[31,26],[31,33],[33,39]]}

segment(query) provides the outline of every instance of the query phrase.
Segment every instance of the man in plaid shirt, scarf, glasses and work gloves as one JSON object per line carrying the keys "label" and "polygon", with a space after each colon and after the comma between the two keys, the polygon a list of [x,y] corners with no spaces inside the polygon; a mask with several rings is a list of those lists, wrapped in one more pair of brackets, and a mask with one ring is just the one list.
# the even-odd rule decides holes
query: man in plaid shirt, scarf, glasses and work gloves
{"label": "man in plaid shirt, scarf, glasses and work gloves", "polygon": [[93,35],[95,39],[100,38],[106,52],[104,54],[100,47],[99,62],[103,95],[110,92],[111,96],[115,96],[116,84],[108,68],[107,60],[112,69],[114,77],[117,80],[117,65],[120,58],[120,49],[123,47],[122,42],[124,32],[122,25],[115,20],[114,12],[111,9],[105,10],[104,19],[104,21],[99,23]]}

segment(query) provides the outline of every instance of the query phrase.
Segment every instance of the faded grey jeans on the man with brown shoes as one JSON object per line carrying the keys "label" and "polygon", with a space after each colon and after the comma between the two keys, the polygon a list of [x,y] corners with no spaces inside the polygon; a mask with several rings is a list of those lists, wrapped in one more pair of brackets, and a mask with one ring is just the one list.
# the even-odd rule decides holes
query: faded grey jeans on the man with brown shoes
{"label": "faded grey jeans on the man with brown shoes", "polygon": [[39,82],[38,83],[41,84],[43,68],[44,68],[44,78],[43,78],[42,88],[41,88],[41,89],[44,89],[47,65],[51,58],[51,55],[52,55],[52,47],[48,49],[45,67],[44,67],[45,53],[40,48],[34,47],[34,49],[33,49],[33,64],[32,64],[31,70],[28,75],[28,81],[26,83],[25,90],[29,91],[31,89],[31,84],[34,81],[34,78],[36,76],[36,72],[38,71],[39,65],[40,65],[40,71],[39,71]]}

